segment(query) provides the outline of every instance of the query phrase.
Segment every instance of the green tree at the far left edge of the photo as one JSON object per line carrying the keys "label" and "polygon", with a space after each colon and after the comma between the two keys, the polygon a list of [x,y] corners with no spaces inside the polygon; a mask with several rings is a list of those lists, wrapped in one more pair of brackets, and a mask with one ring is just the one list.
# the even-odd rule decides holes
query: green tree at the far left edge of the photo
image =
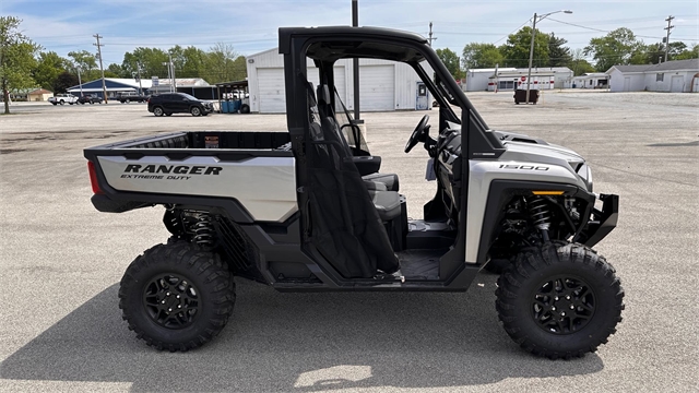
{"label": "green tree at the far left edge of the photo", "polygon": [[40,47],[20,31],[22,20],[0,16],[0,87],[4,112],[10,112],[10,92],[36,86],[32,70]]}

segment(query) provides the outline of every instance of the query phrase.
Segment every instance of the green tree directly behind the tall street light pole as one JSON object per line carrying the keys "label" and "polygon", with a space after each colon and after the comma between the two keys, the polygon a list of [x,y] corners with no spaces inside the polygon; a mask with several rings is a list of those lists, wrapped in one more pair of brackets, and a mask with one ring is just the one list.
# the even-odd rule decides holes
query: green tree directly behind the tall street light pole
{"label": "green tree directly behind the tall street light pole", "polygon": [[[548,67],[548,34],[538,29],[534,38],[533,67]],[[508,67],[529,67],[529,52],[532,45],[532,27],[524,26],[519,32],[510,34],[505,44],[505,62]]]}

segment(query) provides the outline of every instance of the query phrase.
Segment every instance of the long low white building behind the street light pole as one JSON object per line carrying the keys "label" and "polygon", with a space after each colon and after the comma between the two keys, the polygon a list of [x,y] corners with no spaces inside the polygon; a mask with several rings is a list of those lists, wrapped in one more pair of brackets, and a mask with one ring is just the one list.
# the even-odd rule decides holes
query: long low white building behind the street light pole
{"label": "long low white building behind the street light pole", "polygon": [[[466,74],[466,92],[493,92],[526,88],[529,69],[498,68],[473,69]],[[535,90],[568,88],[572,83],[573,72],[567,67],[540,67],[532,69],[532,87]]]}

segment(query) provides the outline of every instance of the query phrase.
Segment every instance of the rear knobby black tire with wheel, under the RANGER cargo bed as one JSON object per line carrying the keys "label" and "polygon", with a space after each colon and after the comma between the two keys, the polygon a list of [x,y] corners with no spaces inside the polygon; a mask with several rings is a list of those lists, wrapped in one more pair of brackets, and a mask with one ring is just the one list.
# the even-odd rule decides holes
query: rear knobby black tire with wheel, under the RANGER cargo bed
{"label": "rear knobby black tire with wheel, under the RANGER cargo bed", "polygon": [[138,257],[119,288],[129,330],[170,352],[193,349],[216,336],[235,298],[233,275],[217,254],[174,239]]}

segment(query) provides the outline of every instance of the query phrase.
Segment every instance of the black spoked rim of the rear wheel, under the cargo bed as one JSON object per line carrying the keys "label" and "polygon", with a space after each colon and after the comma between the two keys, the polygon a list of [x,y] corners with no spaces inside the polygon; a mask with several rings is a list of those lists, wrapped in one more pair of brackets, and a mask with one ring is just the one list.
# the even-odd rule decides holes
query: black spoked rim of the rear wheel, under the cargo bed
{"label": "black spoked rim of the rear wheel, under the cargo bed", "polygon": [[151,320],[163,327],[183,329],[199,311],[199,290],[177,274],[161,274],[143,290],[143,306]]}

